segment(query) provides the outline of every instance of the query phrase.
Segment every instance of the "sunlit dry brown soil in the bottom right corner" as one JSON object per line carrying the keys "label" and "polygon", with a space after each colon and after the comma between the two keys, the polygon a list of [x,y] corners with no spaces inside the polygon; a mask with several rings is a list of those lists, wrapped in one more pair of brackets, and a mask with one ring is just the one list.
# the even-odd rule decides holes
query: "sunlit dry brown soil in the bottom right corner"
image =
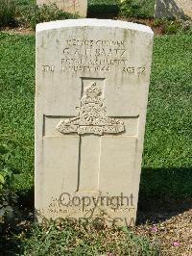
{"label": "sunlit dry brown soil in the bottom right corner", "polygon": [[[166,216],[169,213],[161,214]],[[134,231],[156,243],[162,256],[192,255],[192,209],[156,225],[136,226]]]}

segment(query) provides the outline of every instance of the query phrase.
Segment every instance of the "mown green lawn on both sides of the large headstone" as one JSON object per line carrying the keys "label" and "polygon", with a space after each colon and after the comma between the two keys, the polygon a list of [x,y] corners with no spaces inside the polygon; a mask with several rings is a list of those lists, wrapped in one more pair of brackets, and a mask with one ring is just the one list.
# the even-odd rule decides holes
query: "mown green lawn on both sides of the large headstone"
{"label": "mown green lawn on both sides of the large headstone", "polygon": [[[191,196],[192,36],[155,38],[141,192]],[[35,37],[0,34],[1,143],[16,191],[34,176]]]}

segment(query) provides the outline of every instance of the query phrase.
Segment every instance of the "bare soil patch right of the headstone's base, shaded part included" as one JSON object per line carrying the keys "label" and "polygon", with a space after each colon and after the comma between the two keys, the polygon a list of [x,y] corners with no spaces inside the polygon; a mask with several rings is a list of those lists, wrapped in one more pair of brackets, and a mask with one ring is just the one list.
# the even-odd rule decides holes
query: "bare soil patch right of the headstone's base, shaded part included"
{"label": "bare soil patch right of the headstone's base, shaded part included", "polygon": [[[162,256],[192,255],[192,199],[149,200],[139,206],[133,230],[156,243]],[[148,210],[147,210],[148,209]],[[144,223],[145,222],[145,223]]]}

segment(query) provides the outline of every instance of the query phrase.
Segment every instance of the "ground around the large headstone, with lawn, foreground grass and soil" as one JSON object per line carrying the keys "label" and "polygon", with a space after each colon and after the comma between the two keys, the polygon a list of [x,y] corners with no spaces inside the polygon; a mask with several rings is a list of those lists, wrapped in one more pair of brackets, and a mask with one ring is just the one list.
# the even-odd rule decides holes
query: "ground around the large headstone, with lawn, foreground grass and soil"
{"label": "ground around the large headstone, with lawn, foreground grass and soil", "polygon": [[[151,19],[142,22],[150,24]],[[192,255],[192,35],[159,36],[162,33],[158,31],[156,34],[137,226],[128,233],[133,243],[129,243],[122,231],[108,228],[105,228],[107,235],[102,229],[93,229],[87,242],[82,237],[82,234],[86,237],[87,230],[77,227],[75,237],[79,241],[75,243],[81,244],[77,246],[79,251],[84,248],[95,252],[101,248],[104,255],[129,255],[126,247],[129,243],[132,251],[139,248],[138,255],[159,255],[158,250],[166,256]],[[16,255],[23,246],[25,255],[45,255],[46,250],[47,255],[54,255],[53,251],[60,250],[55,247],[54,236],[60,244],[67,243],[69,249],[74,230],[70,225],[69,229],[54,224],[43,228],[33,226],[34,32],[22,28],[1,32],[0,56],[0,143],[8,150],[6,165],[14,174],[12,190],[18,195],[19,205],[17,219],[3,230],[8,239],[3,253]],[[143,240],[145,237],[147,242]],[[118,254],[120,247],[127,254],[122,251]],[[30,254],[33,250],[37,254]]]}

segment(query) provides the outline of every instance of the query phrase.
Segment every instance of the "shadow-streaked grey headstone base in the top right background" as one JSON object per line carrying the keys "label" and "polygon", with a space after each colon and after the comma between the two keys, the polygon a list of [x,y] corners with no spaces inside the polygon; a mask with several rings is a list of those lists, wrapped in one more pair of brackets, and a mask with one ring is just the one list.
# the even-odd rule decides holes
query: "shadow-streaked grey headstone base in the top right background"
{"label": "shadow-streaked grey headstone base in the top right background", "polygon": [[155,18],[184,18],[185,13],[180,9],[175,0],[156,0]]}

